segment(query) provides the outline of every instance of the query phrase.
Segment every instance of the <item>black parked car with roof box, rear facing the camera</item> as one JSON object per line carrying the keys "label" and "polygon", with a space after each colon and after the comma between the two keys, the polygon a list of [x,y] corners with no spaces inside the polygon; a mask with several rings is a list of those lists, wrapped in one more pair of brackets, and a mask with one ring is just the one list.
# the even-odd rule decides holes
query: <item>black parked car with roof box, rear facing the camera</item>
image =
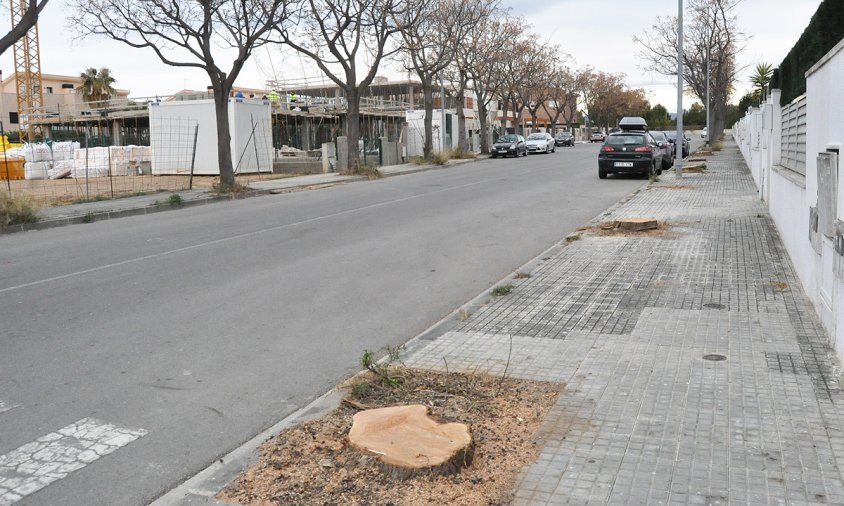
{"label": "black parked car with roof box, rear facing the camera", "polygon": [[[621,132],[607,137],[598,153],[598,177],[607,174],[662,174],[662,151],[642,118],[624,118]],[[639,121],[641,120],[641,121]]]}

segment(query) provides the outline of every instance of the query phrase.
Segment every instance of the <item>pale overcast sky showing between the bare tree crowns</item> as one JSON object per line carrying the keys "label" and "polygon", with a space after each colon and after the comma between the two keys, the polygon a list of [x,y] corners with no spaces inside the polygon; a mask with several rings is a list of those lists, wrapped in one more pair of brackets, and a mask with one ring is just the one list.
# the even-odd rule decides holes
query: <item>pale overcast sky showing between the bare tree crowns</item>
{"label": "pale overcast sky showing between the bare tree crowns", "polygon": [[[523,16],[540,40],[548,40],[570,54],[576,66],[590,66],[609,73],[623,73],[632,88],[644,88],[651,104],[669,111],[677,109],[676,79],[645,71],[633,42],[657,16],[676,15],[675,0],[503,0],[514,15]],[[821,0],[741,0],[736,7],[738,25],[750,39],[740,57],[748,68],[740,75],[734,101],[749,89],[747,83],[756,63],[775,67],[782,61],[809,23]],[[117,88],[130,97],[168,95],[182,89],[204,90],[207,75],[198,69],[174,68],[163,64],[149,49],[134,49],[104,37],[78,40],[67,26],[69,7],[63,0],[50,0],[39,20],[41,71],[45,74],[78,75],[88,67],[107,67],[116,77]],[[8,16],[8,11],[2,12]],[[10,75],[12,51],[0,56],[0,70]],[[402,78],[398,65],[379,72],[391,79]],[[406,74],[404,74],[406,77]],[[259,48],[247,62],[237,85],[263,88],[268,79],[308,82],[324,80],[307,60],[275,48]],[[684,99],[688,108],[693,99]]]}

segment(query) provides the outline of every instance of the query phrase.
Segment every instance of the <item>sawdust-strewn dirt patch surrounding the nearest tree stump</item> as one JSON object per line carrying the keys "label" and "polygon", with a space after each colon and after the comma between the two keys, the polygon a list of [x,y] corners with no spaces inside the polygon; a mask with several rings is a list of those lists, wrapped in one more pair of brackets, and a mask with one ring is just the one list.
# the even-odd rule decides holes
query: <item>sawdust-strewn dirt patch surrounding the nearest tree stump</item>
{"label": "sawdust-strewn dirt patch surrounding the nearest tree stump", "polygon": [[[563,386],[487,375],[444,374],[396,368],[397,387],[370,374],[345,385],[348,403],[325,417],[282,432],[259,449],[260,459],[218,498],[248,505],[505,504],[519,469],[535,460],[539,425]],[[396,481],[381,472],[376,455],[347,440],[359,408],[424,404],[441,422],[468,424],[474,459],[449,476]]]}

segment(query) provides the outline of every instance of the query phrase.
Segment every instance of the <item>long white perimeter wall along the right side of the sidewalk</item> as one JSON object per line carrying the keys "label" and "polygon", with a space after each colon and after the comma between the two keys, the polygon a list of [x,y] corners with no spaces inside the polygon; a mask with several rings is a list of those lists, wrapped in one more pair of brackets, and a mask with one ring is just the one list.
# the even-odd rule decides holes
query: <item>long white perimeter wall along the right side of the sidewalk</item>
{"label": "long white perimeter wall along the right side of the sidewalk", "polygon": [[[830,344],[844,360],[844,269],[836,264],[832,238],[820,234],[810,240],[810,208],[818,205],[819,153],[844,144],[844,41],[841,41],[807,73],[806,83],[806,174],[781,166],[782,108],[775,90],[760,108],[751,109],[733,129],[753,179],[782,236],[803,288],[830,336]],[[838,173],[837,220],[844,221],[844,174]]]}

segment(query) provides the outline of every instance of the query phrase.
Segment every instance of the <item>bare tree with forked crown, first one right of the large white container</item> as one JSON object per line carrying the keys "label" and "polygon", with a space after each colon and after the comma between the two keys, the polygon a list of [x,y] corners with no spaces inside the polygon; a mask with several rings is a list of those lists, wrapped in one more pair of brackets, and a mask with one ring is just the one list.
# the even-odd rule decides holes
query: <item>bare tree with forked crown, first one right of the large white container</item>
{"label": "bare tree with forked crown, first one right of the large white container", "polygon": [[[360,167],[360,103],[404,26],[414,23],[402,0],[300,0],[299,30],[279,27],[280,41],[307,56],[346,94],[350,172]],[[366,68],[361,60],[366,59]]]}

